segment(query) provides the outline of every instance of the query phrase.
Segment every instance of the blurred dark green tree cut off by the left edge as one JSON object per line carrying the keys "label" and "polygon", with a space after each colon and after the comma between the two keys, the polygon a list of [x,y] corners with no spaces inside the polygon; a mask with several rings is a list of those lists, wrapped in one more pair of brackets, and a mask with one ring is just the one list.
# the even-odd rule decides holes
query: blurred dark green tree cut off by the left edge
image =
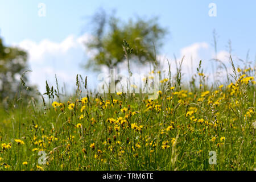
{"label": "blurred dark green tree cut off by the left edge", "polygon": [[[0,38],[0,101],[12,99],[19,93],[20,77],[26,68],[27,53],[19,48],[4,46]],[[23,80],[27,81],[26,75]]]}

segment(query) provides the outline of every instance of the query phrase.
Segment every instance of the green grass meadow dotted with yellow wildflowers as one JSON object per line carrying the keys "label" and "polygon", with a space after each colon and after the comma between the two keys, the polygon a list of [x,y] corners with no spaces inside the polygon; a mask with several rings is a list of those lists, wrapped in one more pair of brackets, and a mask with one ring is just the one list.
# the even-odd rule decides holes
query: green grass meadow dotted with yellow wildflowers
{"label": "green grass meadow dotted with yellow wildflowers", "polygon": [[86,93],[77,77],[72,97],[47,85],[43,101],[25,101],[22,82],[0,110],[0,169],[254,170],[255,68],[232,75],[215,86],[201,69],[187,86],[162,77],[155,100]]}

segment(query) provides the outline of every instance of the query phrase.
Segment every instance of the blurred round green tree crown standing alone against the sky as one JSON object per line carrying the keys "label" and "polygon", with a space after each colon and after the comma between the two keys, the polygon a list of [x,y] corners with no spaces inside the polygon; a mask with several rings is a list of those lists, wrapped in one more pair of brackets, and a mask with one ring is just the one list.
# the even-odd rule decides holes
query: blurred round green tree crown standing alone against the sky
{"label": "blurred round green tree crown standing alone against the sky", "polygon": [[141,64],[156,61],[155,47],[162,46],[162,39],[167,32],[159,26],[157,18],[138,18],[136,21],[130,19],[128,22],[122,22],[113,14],[107,15],[104,10],[94,14],[92,23],[93,40],[86,43],[86,47],[94,52],[94,56],[88,61],[86,68],[94,69],[98,69],[99,65],[117,68],[117,65],[125,60],[123,40],[133,48],[131,60],[136,60],[135,56],[138,60],[139,56]]}

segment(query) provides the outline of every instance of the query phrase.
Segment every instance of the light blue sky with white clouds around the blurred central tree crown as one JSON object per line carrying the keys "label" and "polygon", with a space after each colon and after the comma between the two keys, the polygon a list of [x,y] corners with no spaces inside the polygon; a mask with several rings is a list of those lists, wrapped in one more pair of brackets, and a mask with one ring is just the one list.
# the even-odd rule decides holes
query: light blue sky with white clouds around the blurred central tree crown
{"label": "light blue sky with white clouds around the blurred central tree crown", "polygon": [[[38,16],[39,3],[46,5],[46,17]],[[215,3],[217,6],[216,17],[208,15],[210,3]],[[160,52],[166,57],[172,58],[173,53],[181,57],[182,53],[196,52],[196,55],[192,53],[195,59],[210,58],[213,52],[214,28],[219,35],[220,56],[221,53],[223,56],[225,51],[228,51],[226,46],[229,39],[232,40],[232,47],[237,57],[245,59],[249,49],[252,60],[256,55],[256,1],[254,0],[1,0],[0,36],[7,45],[18,45],[26,48],[29,53],[32,52],[31,50],[43,49],[39,53],[40,57],[36,57],[36,53],[30,56],[29,63],[31,68],[34,68],[34,72],[42,71],[42,68],[46,68],[48,72],[46,76],[42,76],[45,72],[33,73],[32,82],[38,82],[36,79],[39,78],[50,79],[55,71],[62,74],[65,81],[65,78],[76,75],[75,72],[85,74],[79,65],[86,60],[88,53],[79,43],[80,40],[86,39],[85,34],[89,34],[86,32],[89,30],[86,25],[89,17],[99,7],[103,7],[106,11],[116,10],[116,15],[123,20],[135,18],[137,15],[145,18],[158,16],[160,24],[167,27],[170,32]],[[67,70],[70,74],[64,76]],[[68,81],[70,80],[67,79]],[[40,87],[42,88],[42,85]]]}

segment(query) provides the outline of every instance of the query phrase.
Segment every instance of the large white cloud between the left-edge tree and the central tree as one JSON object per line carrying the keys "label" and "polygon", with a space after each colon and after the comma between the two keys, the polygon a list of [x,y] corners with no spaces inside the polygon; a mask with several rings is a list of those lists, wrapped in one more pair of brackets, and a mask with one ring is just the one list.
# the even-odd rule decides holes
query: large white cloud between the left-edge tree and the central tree
{"label": "large white cloud between the left-edge tree and the central tree", "polygon": [[[44,39],[39,43],[32,40],[23,40],[14,44],[28,52],[28,65],[32,70],[29,74],[31,84],[38,85],[39,91],[44,92],[46,80],[55,85],[55,74],[59,80],[59,85],[63,86],[65,82],[67,90],[71,90],[75,86],[76,75],[81,74],[83,77],[88,75],[94,77],[91,72],[82,68],[85,64],[86,52],[84,43],[89,41],[90,35],[84,34],[76,37],[69,35],[62,42],[52,42]],[[89,79],[88,79],[89,80]]]}

